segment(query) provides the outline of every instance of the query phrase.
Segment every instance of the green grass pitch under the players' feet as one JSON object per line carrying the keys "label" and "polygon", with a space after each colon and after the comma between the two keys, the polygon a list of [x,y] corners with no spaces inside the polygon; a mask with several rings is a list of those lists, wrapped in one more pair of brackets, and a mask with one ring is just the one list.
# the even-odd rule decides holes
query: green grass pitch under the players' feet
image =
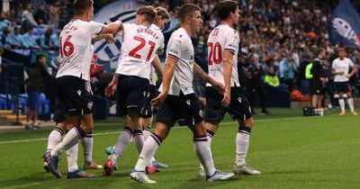
{"label": "green grass pitch under the players' feet", "polygon": [[[94,179],[67,179],[63,154],[59,163],[63,178],[59,180],[42,169],[49,130],[37,130],[0,133],[0,188],[360,188],[360,116],[338,116],[334,111],[324,117],[302,117],[299,109],[270,111],[271,115],[255,117],[247,155],[247,163],[262,172],[259,176],[236,175],[227,182],[205,182],[197,176],[199,163],[191,131],[175,127],[156,155],[170,167],[149,175],[157,184],[129,179],[138,158],[133,144],[119,160],[120,171],[111,177],[103,177],[102,170],[97,170],[89,171],[98,175]],[[104,148],[116,141],[123,126],[119,121],[95,123],[95,162],[103,165],[106,161]],[[227,118],[212,140],[215,166],[222,171],[232,170],[237,130],[237,123]],[[80,167],[82,154],[80,147]]]}

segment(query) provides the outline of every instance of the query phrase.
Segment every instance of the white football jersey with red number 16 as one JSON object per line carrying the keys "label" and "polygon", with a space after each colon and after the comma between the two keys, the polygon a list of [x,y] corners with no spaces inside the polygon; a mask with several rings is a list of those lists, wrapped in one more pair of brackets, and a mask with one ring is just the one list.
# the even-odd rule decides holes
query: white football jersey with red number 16
{"label": "white football jersey with red number 16", "polygon": [[[89,80],[89,70],[94,47],[91,36],[103,31],[102,23],[72,20],[60,33],[58,74],[60,76],[77,76]],[[93,48],[93,49],[92,49]]]}

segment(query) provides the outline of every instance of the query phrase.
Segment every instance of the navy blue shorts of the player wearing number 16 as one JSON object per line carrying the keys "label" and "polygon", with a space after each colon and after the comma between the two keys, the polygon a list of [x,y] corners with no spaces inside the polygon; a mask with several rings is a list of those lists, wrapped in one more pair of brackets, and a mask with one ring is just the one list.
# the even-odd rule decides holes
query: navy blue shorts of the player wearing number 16
{"label": "navy blue shorts of the player wearing number 16", "polygon": [[58,103],[70,116],[93,113],[93,99],[90,85],[77,76],[60,76],[56,78]]}

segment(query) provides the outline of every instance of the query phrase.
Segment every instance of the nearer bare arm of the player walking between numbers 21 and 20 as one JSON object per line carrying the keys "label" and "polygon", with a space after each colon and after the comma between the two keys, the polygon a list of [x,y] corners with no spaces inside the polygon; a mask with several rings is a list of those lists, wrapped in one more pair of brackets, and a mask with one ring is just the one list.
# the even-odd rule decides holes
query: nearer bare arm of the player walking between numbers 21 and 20
{"label": "nearer bare arm of the player walking between numbers 21 and 20", "polygon": [[152,105],[157,106],[165,101],[166,96],[170,89],[171,79],[174,76],[174,70],[177,64],[177,60],[178,59],[173,56],[167,56],[166,64],[164,68],[164,76],[163,76],[163,91],[151,101]]}

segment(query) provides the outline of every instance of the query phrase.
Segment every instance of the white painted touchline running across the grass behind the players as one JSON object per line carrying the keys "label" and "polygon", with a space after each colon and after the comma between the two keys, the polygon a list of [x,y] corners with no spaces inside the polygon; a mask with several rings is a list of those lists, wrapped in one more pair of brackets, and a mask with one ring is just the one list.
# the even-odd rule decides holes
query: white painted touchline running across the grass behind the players
{"label": "white painted touchline running across the grass behind the players", "polygon": [[[334,114],[336,115],[336,114]],[[334,115],[327,115],[334,116]],[[319,116],[316,117],[293,117],[293,118],[275,118],[275,119],[265,119],[265,120],[256,120],[255,122],[266,122],[266,121],[292,121],[292,120],[305,120],[305,119],[314,119],[314,118],[321,118]],[[220,125],[230,125],[234,124],[235,121],[229,122],[221,122]],[[187,127],[174,127],[173,129],[183,129]],[[119,134],[121,131],[113,131],[113,132],[99,132],[94,133],[94,136],[102,136],[102,135],[112,135],[112,134]],[[31,142],[31,141],[41,141],[41,140],[48,140],[48,138],[40,138],[40,139],[17,139],[17,140],[8,140],[8,141],[0,141],[0,144],[13,144],[13,143],[22,143],[22,142]]]}

